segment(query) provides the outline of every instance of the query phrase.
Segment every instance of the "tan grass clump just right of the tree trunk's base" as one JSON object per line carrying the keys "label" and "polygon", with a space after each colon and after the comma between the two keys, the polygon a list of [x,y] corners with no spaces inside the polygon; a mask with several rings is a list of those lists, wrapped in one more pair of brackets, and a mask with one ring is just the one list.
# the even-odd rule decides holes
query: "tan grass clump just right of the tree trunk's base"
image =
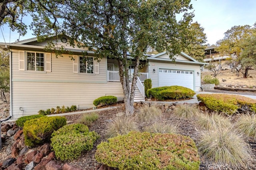
{"label": "tan grass clump just right of the tree trunk's base", "polygon": [[157,120],[161,115],[162,111],[156,104],[151,104],[150,106],[144,104],[137,113],[138,120],[146,123]]}

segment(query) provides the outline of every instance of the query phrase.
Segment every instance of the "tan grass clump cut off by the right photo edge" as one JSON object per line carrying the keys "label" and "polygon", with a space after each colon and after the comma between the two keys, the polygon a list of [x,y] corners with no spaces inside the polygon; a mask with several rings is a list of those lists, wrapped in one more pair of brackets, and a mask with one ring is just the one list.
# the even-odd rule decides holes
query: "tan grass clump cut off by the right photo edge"
{"label": "tan grass clump cut off by the right photo edge", "polygon": [[253,115],[241,115],[235,126],[240,129],[247,136],[256,138],[256,116]]}

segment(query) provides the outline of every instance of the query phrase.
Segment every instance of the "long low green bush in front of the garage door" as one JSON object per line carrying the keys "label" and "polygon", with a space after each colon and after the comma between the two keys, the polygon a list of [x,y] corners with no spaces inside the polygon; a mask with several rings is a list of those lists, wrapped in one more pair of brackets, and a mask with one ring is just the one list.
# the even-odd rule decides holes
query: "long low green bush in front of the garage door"
{"label": "long low green bush in front of the garage door", "polygon": [[190,88],[182,86],[163,86],[148,90],[148,96],[158,100],[192,98],[196,93]]}

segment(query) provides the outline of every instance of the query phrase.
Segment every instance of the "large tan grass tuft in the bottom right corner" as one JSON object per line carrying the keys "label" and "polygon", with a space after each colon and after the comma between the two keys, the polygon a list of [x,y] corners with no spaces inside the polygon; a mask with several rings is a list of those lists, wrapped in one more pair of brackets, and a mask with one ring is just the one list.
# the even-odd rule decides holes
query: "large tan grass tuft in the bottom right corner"
{"label": "large tan grass tuft in the bottom right corner", "polygon": [[228,164],[234,169],[244,167],[251,160],[248,144],[231,128],[206,131],[198,143],[198,150],[209,160]]}

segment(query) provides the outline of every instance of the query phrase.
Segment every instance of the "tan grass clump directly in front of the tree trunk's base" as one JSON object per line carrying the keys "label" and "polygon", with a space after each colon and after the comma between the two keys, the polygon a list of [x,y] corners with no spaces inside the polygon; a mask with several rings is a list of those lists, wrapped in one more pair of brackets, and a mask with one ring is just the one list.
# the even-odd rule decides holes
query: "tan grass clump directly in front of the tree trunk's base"
{"label": "tan grass clump directly in front of the tree trunk's base", "polygon": [[139,131],[133,117],[116,117],[116,119],[108,125],[106,138],[126,135],[130,131]]}

